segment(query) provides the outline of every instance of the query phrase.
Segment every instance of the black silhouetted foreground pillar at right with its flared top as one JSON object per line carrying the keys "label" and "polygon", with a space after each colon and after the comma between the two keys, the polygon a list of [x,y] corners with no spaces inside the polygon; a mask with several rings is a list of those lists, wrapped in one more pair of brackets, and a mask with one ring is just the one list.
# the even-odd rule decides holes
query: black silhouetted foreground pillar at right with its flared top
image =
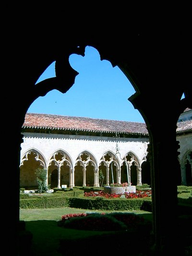
{"label": "black silhouetted foreground pillar at right with its flared top", "polygon": [[[168,73],[170,73],[169,69]],[[167,117],[170,109],[171,91],[169,96],[165,97],[165,91],[160,89],[162,83],[164,83],[164,86],[165,83],[175,84],[174,86],[176,86],[178,82],[176,80],[172,81],[173,77],[171,76],[169,81],[167,78],[162,79],[162,81],[157,79],[156,86],[152,86],[154,94],[151,92],[150,96],[147,95],[147,91],[143,91],[142,94],[135,94],[129,98],[133,106],[143,113],[149,134],[153,235],[155,241],[153,248],[155,252],[159,253],[158,255],[178,253],[182,255],[179,252],[181,249],[179,236],[175,232],[178,225],[178,175],[176,172],[179,170],[176,129],[180,114],[180,99],[178,97],[174,103],[171,102],[174,111],[166,118],[166,126],[164,127],[163,120]],[[152,84],[155,82],[153,79],[151,81]],[[158,91],[156,88],[158,88]],[[157,94],[158,97],[156,97]],[[152,113],[153,108],[156,110],[155,113]],[[168,188],[166,184],[168,184]],[[169,214],[171,214],[171,218],[168,217]]]}

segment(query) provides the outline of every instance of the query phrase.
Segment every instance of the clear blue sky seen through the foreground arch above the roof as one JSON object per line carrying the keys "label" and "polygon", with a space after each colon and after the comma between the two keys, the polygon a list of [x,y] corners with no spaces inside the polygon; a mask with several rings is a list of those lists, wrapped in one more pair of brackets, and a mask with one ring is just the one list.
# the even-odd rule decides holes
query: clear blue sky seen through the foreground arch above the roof
{"label": "clear blue sky seen through the foreground arch above the roof", "polygon": [[[70,64],[79,74],[75,83],[65,93],[52,90],[37,98],[27,112],[90,117],[130,122],[144,122],[128,98],[135,90],[118,67],[109,61],[100,61],[99,52],[85,48],[85,56],[72,54]],[[55,62],[39,77],[38,81],[55,76]]]}

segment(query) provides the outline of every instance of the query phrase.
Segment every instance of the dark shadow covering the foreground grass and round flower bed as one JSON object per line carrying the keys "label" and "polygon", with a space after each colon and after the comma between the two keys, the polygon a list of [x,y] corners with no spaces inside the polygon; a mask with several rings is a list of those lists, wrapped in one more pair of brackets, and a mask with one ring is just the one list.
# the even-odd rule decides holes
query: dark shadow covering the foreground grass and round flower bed
{"label": "dark shadow covering the foreground grass and round flower bed", "polygon": [[[142,214],[151,220],[151,214]],[[149,256],[153,244],[150,233],[99,232],[66,229],[55,220],[25,221],[25,235],[20,236],[20,256],[76,256],[90,253],[92,256],[140,255]],[[186,254],[191,255],[192,216],[179,218],[178,233],[183,236]],[[24,234],[24,233],[23,233]],[[31,243],[30,243],[31,242]]]}

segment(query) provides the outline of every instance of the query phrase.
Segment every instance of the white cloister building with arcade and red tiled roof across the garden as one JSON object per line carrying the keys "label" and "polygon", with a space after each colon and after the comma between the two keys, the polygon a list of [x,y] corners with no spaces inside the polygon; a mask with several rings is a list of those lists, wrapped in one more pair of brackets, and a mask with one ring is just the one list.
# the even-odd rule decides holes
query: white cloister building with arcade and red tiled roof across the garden
{"label": "white cloister building with arcade and red tiled roof across the garden", "polygon": [[[187,118],[180,118],[176,131],[185,185],[192,184],[191,113],[191,109],[185,111]],[[22,134],[20,187],[25,189],[37,187],[37,168],[47,170],[51,188],[150,184],[145,123],[26,113]]]}

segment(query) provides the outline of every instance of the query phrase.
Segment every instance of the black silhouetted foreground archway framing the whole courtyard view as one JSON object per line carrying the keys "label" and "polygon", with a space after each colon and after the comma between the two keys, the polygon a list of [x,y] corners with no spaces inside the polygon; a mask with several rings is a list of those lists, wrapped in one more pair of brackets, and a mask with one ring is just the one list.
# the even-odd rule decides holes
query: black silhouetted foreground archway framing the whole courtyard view
{"label": "black silhouetted foreground archway framing the whole courtyard view", "polygon": [[[80,26],[79,23],[81,29],[77,29],[61,22],[54,23],[55,33],[50,33],[45,27],[42,31],[40,21],[33,23],[33,27],[26,24],[28,20],[25,17],[22,25],[17,24],[9,31],[12,37],[17,31],[17,39],[13,38],[13,44],[12,37],[9,37],[12,47],[6,58],[7,83],[3,85],[5,97],[12,96],[12,109],[9,109],[10,101],[7,100],[2,119],[6,126],[3,134],[8,135],[6,146],[12,152],[11,189],[14,191],[12,210],[9,210],[7,220],[10,223],[7,224],[7,239],[14,246],[9,246],[7,250],[18,252],[20,144],[25,113],[39,96],[52,89],[65,93],[73,85],[77,72],[69,64],[69,56],[73,53],[84,56],[84,49],[89,45],[99,51],[102,59],[110,61],[113,66],[118,65],[136,90],[129,100],[142,114],[150,138],[154,248],[157,254],[178,252],[180,243],[174,232],[177,227],[177,181],[169,170],[169,163],[172,163],[172,170],[178,170],[176,124],[180,113],[187,107],[192,108],[191,68],[188,65],[192,57],[192,42],[188,29],[175,25],[169,30],[166,24],[154,31],[131,22],[129,33],[126,26],[116,30],[112,24],[107,32],[106,26],[97,25],[92,27],[90,33],[84,24]],[[123,25],[120,27],[123,28]],[[182,40],[179,41],[178,37]],[[53,61],[56,61],[56,77],[35,85]],[[183,92],[185,98],[180,100]],[[169,158],[165,158],[166,155]],[[167,187],[168,196],[165,173],[167,181],[171,181]],[[7,203],[6,209],[10,209],[10,200]],[[171,218],[168,218],[168,213],[171,213]],[[7,255],[12,253],[7,252]]]}

